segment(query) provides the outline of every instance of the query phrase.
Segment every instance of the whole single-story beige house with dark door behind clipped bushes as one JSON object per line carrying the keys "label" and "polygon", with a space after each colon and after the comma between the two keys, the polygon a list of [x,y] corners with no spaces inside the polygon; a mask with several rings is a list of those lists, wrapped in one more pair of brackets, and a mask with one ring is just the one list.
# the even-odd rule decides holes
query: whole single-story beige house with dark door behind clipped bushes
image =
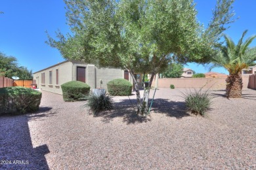
{"label": "whole single-story beige house with dark door behind clipped bushes", "polygon": [[[139,87],[142,88],[142,76],[136,74]],[[61,85],[77,80],[85,82],[93,88],[107,89],[107,83],[116,78],[125,78],[133,83],[128,71],[116,68],[99,68],[83,61],[66,60],[56,65],[52,65],[33,73],[33,80],[36,81],[37,88],[47,92],[62,95]]]}

